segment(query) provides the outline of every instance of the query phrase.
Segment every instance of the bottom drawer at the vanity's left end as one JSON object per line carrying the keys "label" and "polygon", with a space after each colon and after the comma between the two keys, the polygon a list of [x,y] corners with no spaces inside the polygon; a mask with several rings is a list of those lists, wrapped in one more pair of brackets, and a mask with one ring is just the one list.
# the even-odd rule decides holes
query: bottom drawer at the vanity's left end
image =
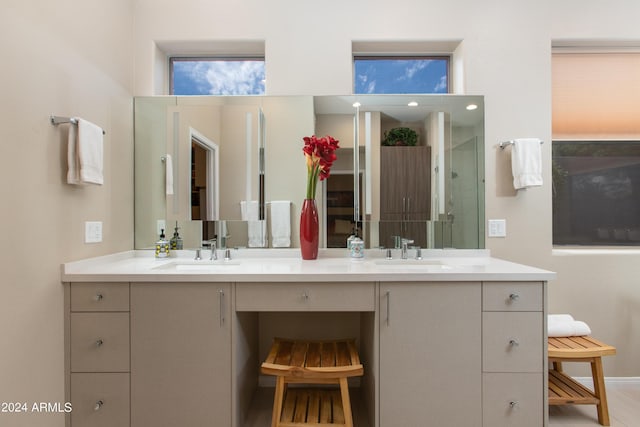
{"label": "bottom drawer at the vanity's left end", "polygon": [[71,374],[72,427],[129,426],[129,374]]}

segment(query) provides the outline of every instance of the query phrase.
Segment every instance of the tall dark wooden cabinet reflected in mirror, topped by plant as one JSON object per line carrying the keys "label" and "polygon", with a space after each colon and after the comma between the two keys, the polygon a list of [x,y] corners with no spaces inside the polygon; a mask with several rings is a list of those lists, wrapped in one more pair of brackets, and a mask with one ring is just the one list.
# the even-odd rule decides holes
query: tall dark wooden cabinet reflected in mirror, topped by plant
{"label": "tall dark wooden cabinet reflected in mirror, topped by plant", "polygon": [[426,221],[431,210],[431,148],[380,149],[380,244],[392,247],[392,236],[401,236],[426,247]]}

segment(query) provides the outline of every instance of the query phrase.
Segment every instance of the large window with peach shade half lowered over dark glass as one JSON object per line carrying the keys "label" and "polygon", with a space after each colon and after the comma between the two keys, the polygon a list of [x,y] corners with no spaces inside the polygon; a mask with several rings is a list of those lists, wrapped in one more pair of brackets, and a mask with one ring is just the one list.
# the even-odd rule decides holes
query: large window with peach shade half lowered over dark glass
{"label": "large window with peach shade half lowered over dark glass", "polygon": [[640,54],[554,53],[553,243],[640,246]]}

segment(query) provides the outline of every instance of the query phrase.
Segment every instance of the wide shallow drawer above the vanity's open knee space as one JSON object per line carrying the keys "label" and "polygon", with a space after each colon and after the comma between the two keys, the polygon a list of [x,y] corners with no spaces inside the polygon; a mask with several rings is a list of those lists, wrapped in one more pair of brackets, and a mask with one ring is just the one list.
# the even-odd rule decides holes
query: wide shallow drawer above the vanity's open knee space
{"label": "wide shallow drawer above the vanity's open knee space", "polygon": [[373,283],[237,283],[236,311],[374,311]]}

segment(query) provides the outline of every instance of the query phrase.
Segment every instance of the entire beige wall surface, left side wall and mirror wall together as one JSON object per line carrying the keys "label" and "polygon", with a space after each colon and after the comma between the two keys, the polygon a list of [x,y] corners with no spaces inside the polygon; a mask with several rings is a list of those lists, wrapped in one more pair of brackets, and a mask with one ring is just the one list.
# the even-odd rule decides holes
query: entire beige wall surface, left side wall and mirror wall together
{"label": "entire beige wall surface, left side wall and mirror wall together", "polygon": [[[552,41],[638,41],[636,0],[400,0],[393,14],[388,2],[365,0],[8,0],[0,8],[0,400],[64,399],[59,264],[133,247],[132,96],[164,87],[153,77],[162,68],[154,40],[264,40],[270,95],[349,93],[352,40],[462,40],[457,87],[485,95],[486,217],[507,220],[508,237],[487,246],[557,271],[551,311],[573,313],[618,347],[607,375],[640,376],[640,251],[554,255],[549,185]],[[105,128],[104,186],[64,184],[66,130],[48,123],[51,113]],[[546,142],[545,185],[514,195],[496,145],[523,136]],[[103,221],[102,243],[83,243],[87,220]],[[0,417],[63,425],[61,415]]]}

